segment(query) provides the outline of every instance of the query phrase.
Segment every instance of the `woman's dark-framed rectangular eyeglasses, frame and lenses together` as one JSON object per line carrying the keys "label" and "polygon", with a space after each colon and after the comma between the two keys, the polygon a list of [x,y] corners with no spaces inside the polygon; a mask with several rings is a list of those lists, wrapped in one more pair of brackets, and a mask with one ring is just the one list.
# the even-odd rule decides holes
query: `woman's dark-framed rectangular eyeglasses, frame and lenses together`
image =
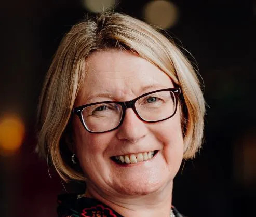
{"label": "woman's dark-framed rectangular eyeglasses, frame and lenses together", "polygon": [[167,88],[145,93],[126,102],[103,101],[73,108],[84,128],[90,133],[103,133],[122,125],[127,108],[137,117],[154,123],[171,118],[177,111],[180,88]]}

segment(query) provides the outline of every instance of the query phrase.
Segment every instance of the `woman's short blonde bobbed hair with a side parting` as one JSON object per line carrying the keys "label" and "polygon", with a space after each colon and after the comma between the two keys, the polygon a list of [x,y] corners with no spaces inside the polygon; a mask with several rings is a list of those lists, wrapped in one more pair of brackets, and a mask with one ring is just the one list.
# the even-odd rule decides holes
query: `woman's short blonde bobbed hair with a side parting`
{"label": "woman's short blonde bobbed hair with a side parting", "polygon": [[[51,160],[60,177],[85,180],[63,156],[63,138],[70,133],[72,108],[85,75],[85,63],[95,51],[128,50],[165,72],[182,89],[184,159],[201,146],[205,102],[197,73],[182,52],[149,24],[120,13],[104,13],[74,25],[65,35],[46,75],[38,109],[37,151]],[[71,158],[71,156],[70,156]]]}

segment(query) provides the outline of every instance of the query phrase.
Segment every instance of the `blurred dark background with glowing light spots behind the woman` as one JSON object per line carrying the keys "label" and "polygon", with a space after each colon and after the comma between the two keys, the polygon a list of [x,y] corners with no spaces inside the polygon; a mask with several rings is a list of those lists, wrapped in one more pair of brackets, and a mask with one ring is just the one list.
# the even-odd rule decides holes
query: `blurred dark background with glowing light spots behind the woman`
{"label": "blurred dark background with glowing light spots behind the woman", "polygon": [[50,178],[34,153],[36,111],[64,33],[102,5],[166,29],[204,79],[204,144],[182,164],[173,204],[190,217],[256,216],[256,2],[225,0],[2,1],[0,216],[56,216],[57,195],[83,188]]}

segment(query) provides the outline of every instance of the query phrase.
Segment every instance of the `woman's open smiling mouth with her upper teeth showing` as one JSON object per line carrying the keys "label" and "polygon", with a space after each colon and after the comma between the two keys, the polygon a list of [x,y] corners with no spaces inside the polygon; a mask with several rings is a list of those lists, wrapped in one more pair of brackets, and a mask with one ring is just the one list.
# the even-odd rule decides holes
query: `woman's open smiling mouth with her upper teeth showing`
{"label": "woman's open smiling mouth with her upper teeth showing", "polygon": [[150,151],[150,152],[141,152],[137,154],[128,154],[128,155],[119,155],[113,156],[111,159],[117,164],[136,164],[137,162],[143,162],[150,160],[156,155],[159,150]]}

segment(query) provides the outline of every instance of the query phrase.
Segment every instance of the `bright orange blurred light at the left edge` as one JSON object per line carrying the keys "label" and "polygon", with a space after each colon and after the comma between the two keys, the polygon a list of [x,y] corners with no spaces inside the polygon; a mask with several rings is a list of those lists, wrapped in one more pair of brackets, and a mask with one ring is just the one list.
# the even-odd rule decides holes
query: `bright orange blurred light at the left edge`
{"label": "bright orange blurred light at the left edge", "polygon": [[17,115],[0,118],[0,155],[9,156],[18,151],[24,135],[24,123]]}

